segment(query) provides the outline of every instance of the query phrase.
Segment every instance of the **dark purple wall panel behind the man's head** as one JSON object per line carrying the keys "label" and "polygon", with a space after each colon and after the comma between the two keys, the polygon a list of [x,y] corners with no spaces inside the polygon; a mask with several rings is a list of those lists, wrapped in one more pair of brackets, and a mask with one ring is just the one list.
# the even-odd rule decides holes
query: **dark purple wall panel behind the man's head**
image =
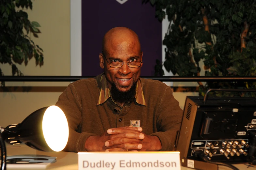
{"label": "dark purple wall panel behind the man's head", "polygon": [[103,72],[99,66],[104,34],[111,28],[125,26],[136,32],[143,51],[142,76],[153,76],[155,60],[162,60],[162,24],[155,18],[155,8],[141,0],[82,1],[82,76]]}

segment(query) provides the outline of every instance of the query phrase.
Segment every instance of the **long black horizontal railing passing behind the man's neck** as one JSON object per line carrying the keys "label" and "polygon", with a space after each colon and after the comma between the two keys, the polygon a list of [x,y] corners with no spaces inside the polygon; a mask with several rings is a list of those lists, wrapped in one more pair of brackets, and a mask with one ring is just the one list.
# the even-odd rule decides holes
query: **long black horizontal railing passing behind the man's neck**
{"label": "long black horizontal railing passing behind the man's neck", "polygon": [[[93,78],[95,76],[0,76],[0,82],[74,82],[80,79]],[[145,79],[159,80],[161,82],[256,82],[256,76],[247,77],[211,77],[211,76],[141,76]]]}

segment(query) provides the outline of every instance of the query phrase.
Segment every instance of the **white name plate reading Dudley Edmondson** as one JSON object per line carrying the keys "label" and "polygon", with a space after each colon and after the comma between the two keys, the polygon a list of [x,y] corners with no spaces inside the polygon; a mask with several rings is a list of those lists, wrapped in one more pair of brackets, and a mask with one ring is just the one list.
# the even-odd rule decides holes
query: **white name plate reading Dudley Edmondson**
{"label": "white name plate reading Dudley Edmondson", "polygon": [[180,152],[78,152],[78,170],[181,170]]}

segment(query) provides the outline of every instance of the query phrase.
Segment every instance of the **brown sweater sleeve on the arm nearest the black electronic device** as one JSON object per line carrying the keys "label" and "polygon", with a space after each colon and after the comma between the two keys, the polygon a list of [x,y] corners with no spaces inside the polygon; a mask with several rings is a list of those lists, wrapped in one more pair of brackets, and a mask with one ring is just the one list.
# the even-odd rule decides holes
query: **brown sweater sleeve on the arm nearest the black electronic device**
{"label": "brown sweater sleeve on the arm nearest the black electronic device", "polygon": [[183,111],[179,102],[174,99],[170,87],[166,87],[164,96],[160,100],[157,115],[158,131],[152,133],[161,142],[161,151],[173,151],[177,132],[180,130]]}

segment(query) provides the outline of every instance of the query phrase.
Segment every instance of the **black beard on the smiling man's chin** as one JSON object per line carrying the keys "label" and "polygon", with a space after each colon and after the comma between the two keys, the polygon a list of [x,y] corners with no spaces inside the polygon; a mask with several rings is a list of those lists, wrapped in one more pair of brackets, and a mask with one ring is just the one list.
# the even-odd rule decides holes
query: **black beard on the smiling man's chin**
{"label": "black beard on the smiling man's chin", "polygon": [[128,91],[120,91],[115,83],[113,83],[110,89],[113,100],[118,103],[129,103],[133,101],[136,95],[136,84],[137,81],[133,83]]}

